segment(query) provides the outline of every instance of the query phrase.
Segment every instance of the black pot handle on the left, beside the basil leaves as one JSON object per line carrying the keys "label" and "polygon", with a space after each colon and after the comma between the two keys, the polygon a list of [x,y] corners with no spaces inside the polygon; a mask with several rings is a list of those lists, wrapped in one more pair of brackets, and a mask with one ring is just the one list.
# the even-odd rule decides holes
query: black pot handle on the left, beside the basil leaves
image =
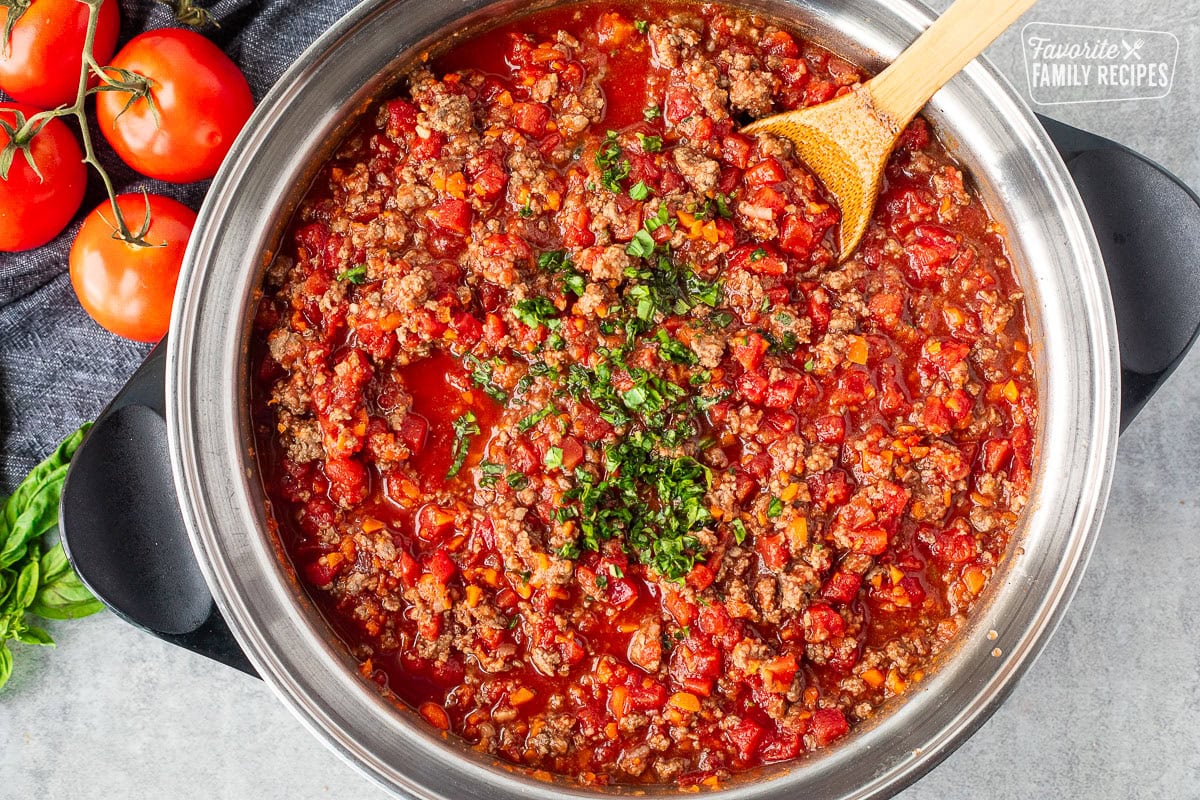
{"label": "black pot handle on the left, beside the basil leaves", "polygon": [[67,469],[62,547],[113,612],[254,675],[212,602],[179,511],[167,452],[166,339],[101,413]]}

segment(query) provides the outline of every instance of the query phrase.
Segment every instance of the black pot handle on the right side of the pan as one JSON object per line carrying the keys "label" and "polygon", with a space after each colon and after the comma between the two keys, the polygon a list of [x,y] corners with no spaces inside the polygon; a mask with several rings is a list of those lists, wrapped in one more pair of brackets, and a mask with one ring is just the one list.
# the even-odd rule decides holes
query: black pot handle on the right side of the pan
{"label": "black pot handle on the right side of the pan", "polygon": [[1067,162],[1104,255],[1124,431],[1200,332],[1200,198],[1116,142],[1038,119]]}

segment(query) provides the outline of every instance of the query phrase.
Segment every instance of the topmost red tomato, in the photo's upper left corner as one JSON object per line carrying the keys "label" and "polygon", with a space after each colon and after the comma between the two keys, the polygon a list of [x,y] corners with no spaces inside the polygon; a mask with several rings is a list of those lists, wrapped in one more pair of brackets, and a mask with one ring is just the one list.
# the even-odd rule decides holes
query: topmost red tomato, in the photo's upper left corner
{"label": "topmost red tomato, in the photo's upper left corner", "polygon": [[[0,31],[12,11],[0,6]],[[92,53],[98,64],[113,58],[121,16],[116,0],[106,0],[96,19]],[[74,101],[83,68],[88,6],[79,0],[34,0],[12,28],[12,43],[0,43],[0,89],[13,98],[55,108]]]}

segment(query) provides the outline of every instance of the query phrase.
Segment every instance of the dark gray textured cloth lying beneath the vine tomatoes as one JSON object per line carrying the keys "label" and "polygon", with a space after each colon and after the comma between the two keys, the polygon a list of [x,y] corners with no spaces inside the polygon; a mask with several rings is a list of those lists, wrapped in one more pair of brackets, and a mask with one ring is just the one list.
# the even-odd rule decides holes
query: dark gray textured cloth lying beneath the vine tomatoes
{"label": "dark gray textured cloth lying beneath the vine tomatoes", "polygon": [[[352,0],[220,0],[209,5],[220,28],[205,34],[238,62],[259,100],[293,59],[353,5]],[[163,5],[121,0],[118,47],[144,30],[170,24]],[[206,181],[175,186],[145,179],[125,167],[95,128],[94,136],[119,191],[144,187],[199,209]],[[55,241],[25,253],[0,253],[0,493],[11,491],[62,437],[95,417],[150,349],[96,325],[71,289],[71,241],[84,215],[104,199],[100,179],[91,174],[89,181],[83,207]]]}

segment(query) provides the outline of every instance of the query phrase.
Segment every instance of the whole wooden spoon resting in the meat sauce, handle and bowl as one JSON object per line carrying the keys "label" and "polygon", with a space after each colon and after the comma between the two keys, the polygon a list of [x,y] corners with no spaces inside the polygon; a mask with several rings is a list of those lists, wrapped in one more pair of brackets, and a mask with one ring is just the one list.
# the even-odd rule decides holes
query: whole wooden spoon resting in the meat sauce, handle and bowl
{"label": "whole wooden spoon resting in the meat sauce, handle and bowl", "polygon": [[820,106],[767,116],[748,133],[791,139],[841,206],[845,260],[875,210],[883,166],[917,112],[1037,0],[956,0],[888,68]]}

